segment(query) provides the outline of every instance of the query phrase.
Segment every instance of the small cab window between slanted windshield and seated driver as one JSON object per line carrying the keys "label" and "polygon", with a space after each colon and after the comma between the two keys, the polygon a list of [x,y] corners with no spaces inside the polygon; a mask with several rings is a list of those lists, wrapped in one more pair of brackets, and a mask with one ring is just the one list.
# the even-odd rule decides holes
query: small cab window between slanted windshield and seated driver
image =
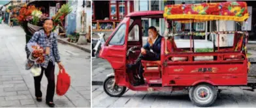
{"label": "small cab window between slanted windshield and seated driver", "polygon": [[138,41],[139,40],[139,29],[138,25],[133,26],[133,29],[131,29],[128,41]]}

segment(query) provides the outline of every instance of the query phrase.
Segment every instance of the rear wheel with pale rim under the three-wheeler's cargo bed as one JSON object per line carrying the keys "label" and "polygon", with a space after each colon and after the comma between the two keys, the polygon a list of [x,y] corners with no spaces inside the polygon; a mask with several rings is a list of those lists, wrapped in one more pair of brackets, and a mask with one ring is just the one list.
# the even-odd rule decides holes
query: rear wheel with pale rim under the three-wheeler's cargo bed
{"label": "rear wheel with pale rim under the three-wheeler's cargo bed", "polygon": [[[199,90],[204,90],[204,89],[208,90],[208,93],[210,95],[208,95],[208,94],[206,94],[206,95],[210,96],[210,97],[207,97],[207,96],[206,96],[206,98],[203,97],[203,98],[205,98],[207,100],[203,101],[204,100],[203,99],[203,100],[200,101],[199,98],[202,98],[202,97],[197,96],[197,91],[199,92]],[[191,87],[189,89],[189,98],[192,101],[192,103],[197,105],[198,107],[209,107],[217,99],[217,88],[212,86],[212,85],[210,85],[210,84],[199,84],[199,85],[197,85],[195,87]]]}

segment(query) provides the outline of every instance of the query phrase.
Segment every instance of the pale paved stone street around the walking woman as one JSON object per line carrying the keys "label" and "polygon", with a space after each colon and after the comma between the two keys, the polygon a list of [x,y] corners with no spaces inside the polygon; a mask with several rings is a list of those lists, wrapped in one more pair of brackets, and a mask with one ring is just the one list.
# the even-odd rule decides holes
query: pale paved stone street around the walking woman
{"label": "pale paved stone street around the walking woman", "polygon": [[[47,79],[41,82],[42,102],[35,100],[33,76],[25,70],[25,33],[21,27],[0,24],[0,107],[48,107]],[[90,53],[58,44],[61,61],[71,75],[71,87],[64,96],[54,96],[56,107],[90,107]],[[58,74],[56,64],[56,81]]]}

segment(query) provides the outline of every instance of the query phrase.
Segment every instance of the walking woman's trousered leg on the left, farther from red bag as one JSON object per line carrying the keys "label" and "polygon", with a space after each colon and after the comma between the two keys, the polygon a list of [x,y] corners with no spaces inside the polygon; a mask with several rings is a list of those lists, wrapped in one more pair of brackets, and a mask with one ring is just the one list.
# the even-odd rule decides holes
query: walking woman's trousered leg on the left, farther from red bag
{"label": "walking woman's trousered leg on the left, farther from red bag", "polygon": [[44,68],[41,70],[41,74],[37,77],[34,77],[34,82],[35,82],[35,97],[41,98],[42,97],[42,92],[40,90],[41,87],[41,79],[42,79],[42,74],[44,74]]}

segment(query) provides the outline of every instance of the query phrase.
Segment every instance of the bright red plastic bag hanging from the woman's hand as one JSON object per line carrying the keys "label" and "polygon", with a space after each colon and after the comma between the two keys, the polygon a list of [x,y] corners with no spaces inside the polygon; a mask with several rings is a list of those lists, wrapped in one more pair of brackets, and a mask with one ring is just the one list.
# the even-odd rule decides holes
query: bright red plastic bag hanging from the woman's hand
{"label": "bright red plastic bag hanging from the woman's hand", "polygon": [[56,85],[56,93],[59,96],[63,96],[67,90],[69,90],[69,86],[71,85],[71,77],[66,73],[65,69],[59,70],[59,74],[57,75],[57,85]]}

